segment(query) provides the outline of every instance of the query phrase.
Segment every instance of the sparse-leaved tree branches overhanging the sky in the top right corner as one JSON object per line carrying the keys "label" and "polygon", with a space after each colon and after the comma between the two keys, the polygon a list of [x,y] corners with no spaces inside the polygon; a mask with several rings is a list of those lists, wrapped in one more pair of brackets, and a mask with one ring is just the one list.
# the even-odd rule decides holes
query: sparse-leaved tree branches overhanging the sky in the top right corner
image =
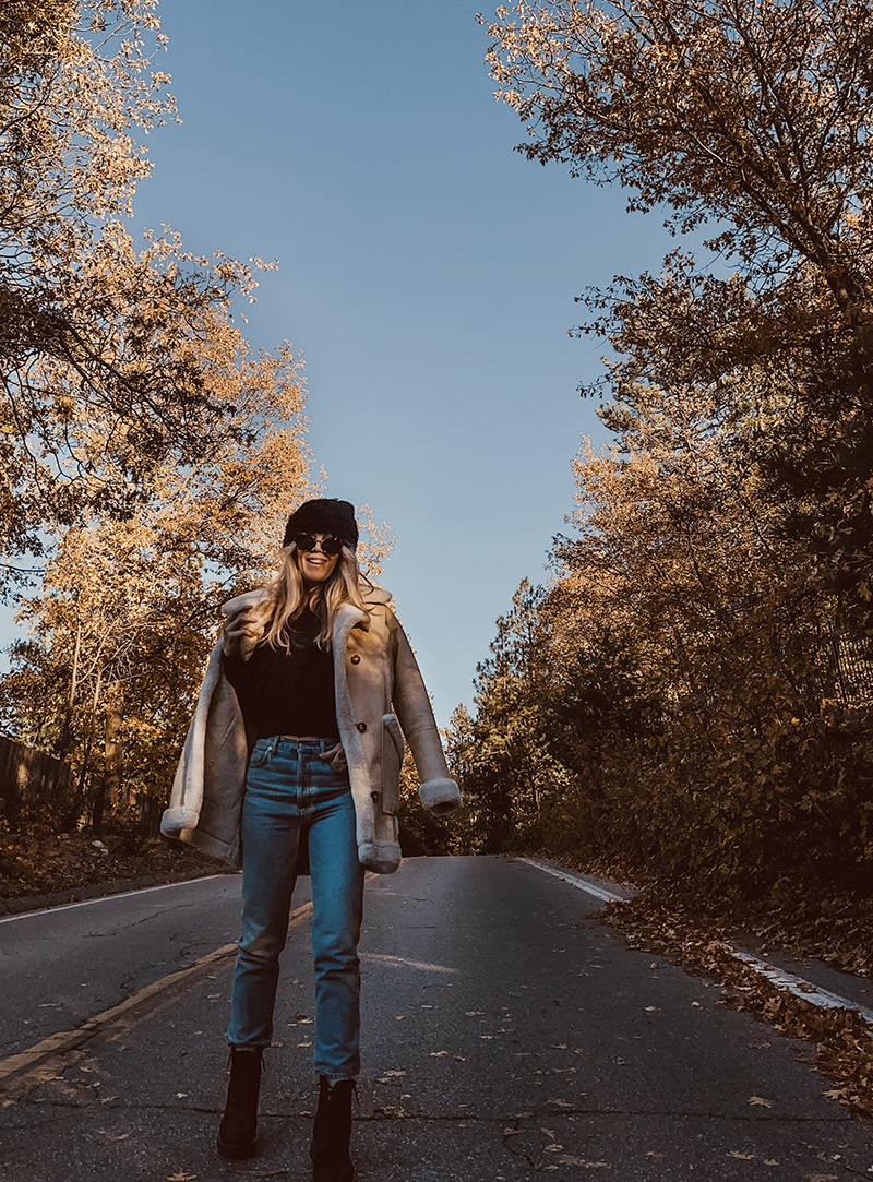
{"label": "sparse-leaved tree branches overhanging the sky in the top right corner", "polygon": [[497,9],[499,95],[521,150],[671,210],[764,288],[815,275],[869,300],[873,9],[845,0],[582,0]]}

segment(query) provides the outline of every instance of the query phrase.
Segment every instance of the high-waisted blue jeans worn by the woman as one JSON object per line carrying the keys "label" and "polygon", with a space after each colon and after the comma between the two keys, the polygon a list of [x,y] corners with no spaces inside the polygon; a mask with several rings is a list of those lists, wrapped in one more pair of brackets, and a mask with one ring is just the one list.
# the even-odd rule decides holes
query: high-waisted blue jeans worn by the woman
{"label": "high-waisted blue jeans worn by the woman", "polygon": [[324,759],[333,740],[259,739],[242,803],[242,935],[227,1040],[269,1046],[279,954],[288,934],[298,843],[308,837],[315,962],[314,1066],[328,1079],[360,1071],[358,940],[364,868],[347,772]]}

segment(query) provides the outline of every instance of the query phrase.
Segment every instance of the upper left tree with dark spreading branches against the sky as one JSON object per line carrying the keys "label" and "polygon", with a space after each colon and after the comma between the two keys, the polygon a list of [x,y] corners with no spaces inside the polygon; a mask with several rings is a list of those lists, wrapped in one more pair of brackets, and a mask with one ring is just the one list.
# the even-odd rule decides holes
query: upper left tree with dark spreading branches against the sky
{"label": "upper left tree with dark spreading branches against the sky", "polygon": [[208,325],[250,292],[252,267],[195,259],[169,232],[136,247],[122,225],[149,173],[144,136],[175,113],[155,9],[7,0],[0,13],[5,577],[56,528],[133,514],[163,466],[196,465],[226,430]]}

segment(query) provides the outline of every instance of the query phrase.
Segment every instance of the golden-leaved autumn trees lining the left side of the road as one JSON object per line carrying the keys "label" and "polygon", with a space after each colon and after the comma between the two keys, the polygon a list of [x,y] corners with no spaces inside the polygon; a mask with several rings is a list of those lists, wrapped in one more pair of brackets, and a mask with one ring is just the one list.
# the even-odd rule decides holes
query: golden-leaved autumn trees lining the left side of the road
{"label": "golden-leaved autumn trees lining the left side of the road", "polygon": [[100,792],[163,791],[216,605],[308,488],[300,362],[232,317],[263,265],[124,227],[175,118],[156,8],[0,12],[0,583],[43,574],[2,707],[97,820]]}

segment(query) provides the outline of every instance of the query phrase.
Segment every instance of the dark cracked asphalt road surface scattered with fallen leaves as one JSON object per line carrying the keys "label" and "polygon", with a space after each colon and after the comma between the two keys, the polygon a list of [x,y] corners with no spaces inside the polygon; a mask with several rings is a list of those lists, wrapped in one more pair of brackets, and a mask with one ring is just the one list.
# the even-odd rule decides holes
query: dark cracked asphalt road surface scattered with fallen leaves
{"label": "dark cracked asphalt road surface scattered with fallen leaves", "polygon": [[[7,1076],[0,1178],[310,1177],[305,917],[285,953],[249,1162],[214,1149],[232,956],[156,986],[234,939],[237,891],[234,878],[201,879],[58,911],[51,927],[0,923],[4,1063],[48,1034],[64,1044]],[[825,1095],[812,1048],[628,950],[600,907],[501,858],[411,859],[369,883],[358,1182],[869,1177],[873,1125]],[[64,1043],[87,1011],[85,981],[89,1005],[133,1000]]]}

